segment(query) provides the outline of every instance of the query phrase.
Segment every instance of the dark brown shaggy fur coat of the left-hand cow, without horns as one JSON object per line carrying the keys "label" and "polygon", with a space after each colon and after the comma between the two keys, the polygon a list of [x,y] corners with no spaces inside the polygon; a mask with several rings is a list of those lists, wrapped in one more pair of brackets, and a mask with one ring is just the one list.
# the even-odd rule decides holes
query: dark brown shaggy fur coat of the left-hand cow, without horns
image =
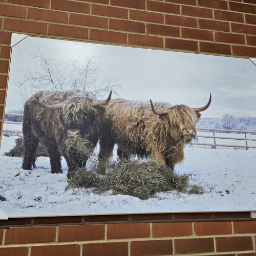
{"label": "dark brown shaggy fur coat of the left-hand cow, without horns", "polygon": [[[36,104],[35,100],[44,104],[61,103],[59,110],[47,110]],[[79,137],[87,138],[91,143],[91,151],[96,146],[105,119],[103,106],[92,106],[97,98],[88,91],[42,91],[31,96],[24,105],[23,134],[25,156],[23,169],[31,170],[35,166],[38,141],[48,150],[51,172],[62,173],[61,155],[68,163],[68,178],[74,175],[77,168],[84,167],[88,156],[78,152],[67,154],[65,139],[68,130],[79,130]]]}

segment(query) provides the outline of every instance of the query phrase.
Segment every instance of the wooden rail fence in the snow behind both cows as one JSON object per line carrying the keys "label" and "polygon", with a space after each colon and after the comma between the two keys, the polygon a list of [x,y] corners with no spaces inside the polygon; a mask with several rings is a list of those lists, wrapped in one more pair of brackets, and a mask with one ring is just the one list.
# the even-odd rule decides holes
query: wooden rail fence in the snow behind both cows
{"label": "wooden rail fence in the snow behind both cows", "polygon": [[[16,113],[6,113],[5,115],[9,116],[23,116],[23,114],[16,114]],[[22,124],[22,122],[11,122],[11,121],[4,121],[4,123],[10,123],[10,124]],[[248,134],[256,134],[256,132],[252,131],[236,131],[236,130],[222,130],[222,129],[209,129],[209,128],[197,128],[197,131],[211,131],[213,136],[203,136],[198,135],[198,138],[210,138],[212,139],[213,143],[191,143],[193,145],[203,145],[203,146],[212,146],[214,148],[217,148],[217,146],[223,146],[223,147],[238,147],[238,148],[256,148],[256,146],[248,145],[248,141],[256,141],[256,139],[250,139],[247,138]],[[11,130],[3,130],[5,133],[17,133],[17,131],[11,131]],[[228,133],[239,133],[244,134],[243,138],[235,138],[235,137],[223,137],[219,136],[220,133],[218,133],[218,136],[216,136],[216,132],[228,132]],[[18,131],[18,133],[22,133],[22,131]],[[242,140],[245,141],[245,145],[230,145],[230,144],[219,144],[216,142],[216,139],[225,139],[225,140]]]}

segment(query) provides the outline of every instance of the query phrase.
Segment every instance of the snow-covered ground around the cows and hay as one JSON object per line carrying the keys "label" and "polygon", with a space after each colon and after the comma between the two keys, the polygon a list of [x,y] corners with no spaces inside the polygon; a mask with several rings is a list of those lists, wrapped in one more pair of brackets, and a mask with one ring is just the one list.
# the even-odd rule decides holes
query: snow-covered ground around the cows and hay
{"label": "snow-covered ground around the cows and hay", "polygon": [[[205,133],[203,133],[205,134]],[[204,188],[202,195],[158,193],[140,200],[111,191],[97,195],[90,190],[69,189],[67,164],[63,174],[51,174],[47,157],[37,159],[32,171],[21,168],[22,158],[4,156],[17,137],[2,137],[0,151],[0,208],[8,217],[121,214],[139,212],[256,210],[256,150],[187,146],[177,174],[190,174],[191,184]]]}

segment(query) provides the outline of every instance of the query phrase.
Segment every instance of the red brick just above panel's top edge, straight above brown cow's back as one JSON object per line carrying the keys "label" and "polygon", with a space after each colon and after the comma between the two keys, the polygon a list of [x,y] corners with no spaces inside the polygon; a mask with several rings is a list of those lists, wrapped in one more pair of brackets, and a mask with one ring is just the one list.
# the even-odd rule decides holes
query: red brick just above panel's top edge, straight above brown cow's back
{"label": "red brick just above panel's top edge, straight above brown cow's back", "polygon": [[163,38],[149,35],[129,34],[129,44],[162,48]]}

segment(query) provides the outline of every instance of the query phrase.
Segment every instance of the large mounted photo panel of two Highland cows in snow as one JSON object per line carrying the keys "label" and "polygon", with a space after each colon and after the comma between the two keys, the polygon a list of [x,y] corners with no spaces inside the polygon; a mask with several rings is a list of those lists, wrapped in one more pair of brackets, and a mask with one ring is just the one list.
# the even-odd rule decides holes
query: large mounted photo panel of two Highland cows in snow
{"label": "large mounted photo panel of two Highland cows in snow", "polygon": [[256,210],[248,59],[27,37],[0,148],[8,217]]}

